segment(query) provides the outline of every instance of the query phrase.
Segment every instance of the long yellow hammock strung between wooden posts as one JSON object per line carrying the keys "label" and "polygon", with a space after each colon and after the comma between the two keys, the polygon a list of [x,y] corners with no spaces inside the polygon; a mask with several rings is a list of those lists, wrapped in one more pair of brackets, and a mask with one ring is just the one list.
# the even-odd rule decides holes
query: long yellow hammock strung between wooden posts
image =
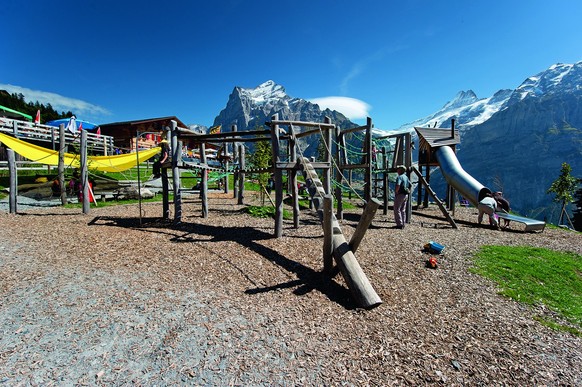
{"label": "long yellow hammock strung between wooden posts", "polygon": [[[46,165],[59,165],[59,152],[31,144],[26,141],[0,133],[0,142],[14,150],[19,155],[36,163]],[[139,162],[142,163],[156,154],[160,153],[159,148],[152,148],[139,152]],[[80,167],[79,155],[65,153],[65,165],[73,168]],[[137,165],[135,153],[125,153],[113,156],[89,156],[87,157],[87,168],[103,172],[122,172]]]}

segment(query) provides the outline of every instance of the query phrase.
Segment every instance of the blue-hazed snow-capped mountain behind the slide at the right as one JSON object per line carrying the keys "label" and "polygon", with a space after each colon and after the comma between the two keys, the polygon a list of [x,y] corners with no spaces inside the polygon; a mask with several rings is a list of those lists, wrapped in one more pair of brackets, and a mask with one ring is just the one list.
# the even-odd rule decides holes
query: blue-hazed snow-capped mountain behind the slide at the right
{"label": "blue-hazed snow-capped mountain behind the slide at the right", "polygon": [[490,98],[467,94],[402,129],[436,121],[450,127],[455,118],[463,168],[491,189],[505,191],[521,214],[555,220],[560,208],[546,191],[561,164],[582,176],[582,62],[555,64]]}

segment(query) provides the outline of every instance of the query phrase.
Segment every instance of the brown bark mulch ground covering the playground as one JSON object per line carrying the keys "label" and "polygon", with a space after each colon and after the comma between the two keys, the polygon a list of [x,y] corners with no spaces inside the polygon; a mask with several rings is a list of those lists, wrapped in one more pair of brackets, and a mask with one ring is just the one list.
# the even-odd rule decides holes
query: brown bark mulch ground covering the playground
{"label": "brown bark mulch ground covering the playground", "polygon": [[379,210],[356,257],[383,303],[363,310],[322,275],[311,211],[277,239],[225,195],[177,225],[161,206],[141,226],[137,205],[0,213],[0,384],[582,385],[582,339],[470,272],[484,244],[582,254],[581,233],[492,230],[466,208],[456,230],[438,208],[398,230]]}

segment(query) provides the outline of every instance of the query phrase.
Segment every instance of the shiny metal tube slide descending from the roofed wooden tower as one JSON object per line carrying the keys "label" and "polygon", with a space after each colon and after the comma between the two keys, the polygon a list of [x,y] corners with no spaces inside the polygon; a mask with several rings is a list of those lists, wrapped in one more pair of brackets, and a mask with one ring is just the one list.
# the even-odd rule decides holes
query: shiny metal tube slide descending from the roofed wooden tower
{"label": "shiny metal tube slide descending from the roofed wooden tower", "polygon": [[[455,152],[448,146],[441,146],[435,152],[437,161],[440,165],[441,172],[453,188],[457,190],[464,198],[477,207],[491,190],[479,183],[473,176],[469,175],[457,159]],[[542,230],[546,227],[546,222],[537,219],[525,218],[506,213],[497,213],[500,218],[513,220],[525,224],[524,231]]]}

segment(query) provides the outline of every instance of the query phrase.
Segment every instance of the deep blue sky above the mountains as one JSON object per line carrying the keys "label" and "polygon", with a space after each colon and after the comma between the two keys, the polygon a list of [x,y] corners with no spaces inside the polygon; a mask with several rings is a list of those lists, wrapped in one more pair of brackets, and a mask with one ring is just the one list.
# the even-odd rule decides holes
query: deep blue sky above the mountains
{"label": "deep blue sky above the mountains", "polygon": [[[582,1],[8,1],[0,89],[96,123],[210,126],[235,86],[393,129],[582,60]],[[335,99],[337,102],[337,98]],[[346,105],[347,102],[347,105]]]}

